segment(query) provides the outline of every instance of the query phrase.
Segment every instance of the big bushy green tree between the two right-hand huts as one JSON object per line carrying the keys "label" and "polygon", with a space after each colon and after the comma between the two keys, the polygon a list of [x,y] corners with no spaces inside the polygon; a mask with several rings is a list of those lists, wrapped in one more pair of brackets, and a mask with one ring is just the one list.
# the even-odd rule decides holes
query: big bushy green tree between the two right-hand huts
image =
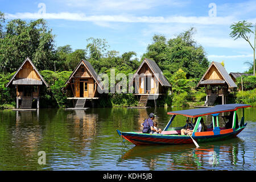
{"label": "big bushy green tree between the two right-hand huts", "polygon": [[163,35],[153,36],[153,43],[147,47],[142,59],[155,60],[163,73],[173,74],[181,68],[187,78],[199,81],[209,67],[209,61],[203,47],[193,40],[194,32],[195,28],[191,28],[170,40]]}

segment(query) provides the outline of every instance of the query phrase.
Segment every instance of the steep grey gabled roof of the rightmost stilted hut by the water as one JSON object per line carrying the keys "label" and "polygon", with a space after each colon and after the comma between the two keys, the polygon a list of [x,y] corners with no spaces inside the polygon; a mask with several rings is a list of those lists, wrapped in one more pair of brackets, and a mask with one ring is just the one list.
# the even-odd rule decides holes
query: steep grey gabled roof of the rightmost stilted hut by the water
{"label": "steep grey gabled roof of the rightmost stilted hut by the water", "polygon": [[[207,73],[209,72],[210,68],[212,68],[213,66],[215,66],[217,68],[217,71],[221,74],[221,76],[223,77],[223,79],[226,82],[226,84],[228,84],[229,88],[236,88],[237,87],[236,83],[229,76],[228,72],[226,72],[226,69],[220,63],[214,62],[214,61],[212,61],[212,63],[210,64],[209,68],[204,73],[204,76],[201,78],[201,80],[197,84],[197,87],[199,85],[201,85],[201,84],[210,84],[210,79],[204,80],[204,77],[207,75]],[[212,81],[216,82],[216,84],[223,83],[223,81],[221,82],[221,80],[220,80],[220,82],[217,82],[217,80],[212,80]]]}

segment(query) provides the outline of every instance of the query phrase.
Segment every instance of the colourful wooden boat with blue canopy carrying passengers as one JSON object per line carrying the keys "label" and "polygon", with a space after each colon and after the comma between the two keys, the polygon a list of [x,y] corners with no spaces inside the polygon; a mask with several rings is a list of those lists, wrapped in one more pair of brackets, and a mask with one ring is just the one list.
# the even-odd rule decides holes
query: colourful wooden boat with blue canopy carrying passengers
{"label": "colourful wooden boat with blue canopy carrying passengers", "polygon": [[[144,144],[188,144],[193,143],[193,140],[189,135],[180,135],[180,130],[183,127],[170,127],[171,123],[174,121],[176,115],[183,115],[184,117],[197,118],[195,123],[195,128],[192,133],[192,138],[196,142],[210,142],[216,140],[224,140],[231,137],[236,137],[243,129],[245,129],[247,123],[245,121],[244,108],[251,107],[250,105],[245,104],[225,104],[225,105],[216,105],[214,107],[206,107],[200,109],[188,109],[180,111],[171,111],[167,114],[172,115],[170,121],[167,123],[166,127],[161,134],[144,134],[142,132],[122,132],[117,130],[117,133],[128,140],[129,142],[135,145],[144,145]],[[238,125],[237,110],[243,109],[243,116]],[[220,113],[233,112],[233,121],[232,127],[225,128],[219,127],[218,125],[218,115]],[[199,126],[200,120],[204,115],[212,115],[212,128],[207,128],[207,131],[196,132],[197,127]],[[185,121],[185,119],[184,119]]]}

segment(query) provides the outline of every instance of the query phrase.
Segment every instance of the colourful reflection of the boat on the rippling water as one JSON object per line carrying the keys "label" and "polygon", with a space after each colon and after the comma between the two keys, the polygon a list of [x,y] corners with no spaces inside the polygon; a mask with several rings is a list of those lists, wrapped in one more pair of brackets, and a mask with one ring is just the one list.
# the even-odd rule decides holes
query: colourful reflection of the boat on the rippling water
{"label": "colourful reflection of the boat on the rippling water", "polygon": [[[236,142],[234,142],[236,141]],[[239,149],[239,150],[238,150]],[[238,156],[240,156],[238,158]],[[190,144],[174,146],[135,146],[122,154],[119,162],[141,160],[144,166],[154,170],[163,166],[166,169],[233,169],[239,163],[245,167],[245,147],[243,140],[204,144],[195,148]],[[164,169],[165,170],[165,169]]]}

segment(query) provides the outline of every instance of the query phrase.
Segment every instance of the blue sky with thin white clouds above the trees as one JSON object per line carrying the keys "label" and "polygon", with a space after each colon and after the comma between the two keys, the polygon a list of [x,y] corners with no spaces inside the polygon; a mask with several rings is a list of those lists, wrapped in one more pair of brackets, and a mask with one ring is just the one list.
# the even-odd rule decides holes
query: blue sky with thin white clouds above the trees
{"label": "blue sky with thin white clouds above the trees", "polygon": [[224,61],[228,72],[246,71],[243,63],[253,60],[253,49],[230,38],[229,27],[238,20],[256,23],[256,1],[0,0],[0,11],[7,20],[46,19],[56,47],[70,44],[75,50],[85,48],[90,37],[101,38],[120,55],[134,51],[140,59],[154,34],[170,39],[195,27],[194,38],[208,60]]}

